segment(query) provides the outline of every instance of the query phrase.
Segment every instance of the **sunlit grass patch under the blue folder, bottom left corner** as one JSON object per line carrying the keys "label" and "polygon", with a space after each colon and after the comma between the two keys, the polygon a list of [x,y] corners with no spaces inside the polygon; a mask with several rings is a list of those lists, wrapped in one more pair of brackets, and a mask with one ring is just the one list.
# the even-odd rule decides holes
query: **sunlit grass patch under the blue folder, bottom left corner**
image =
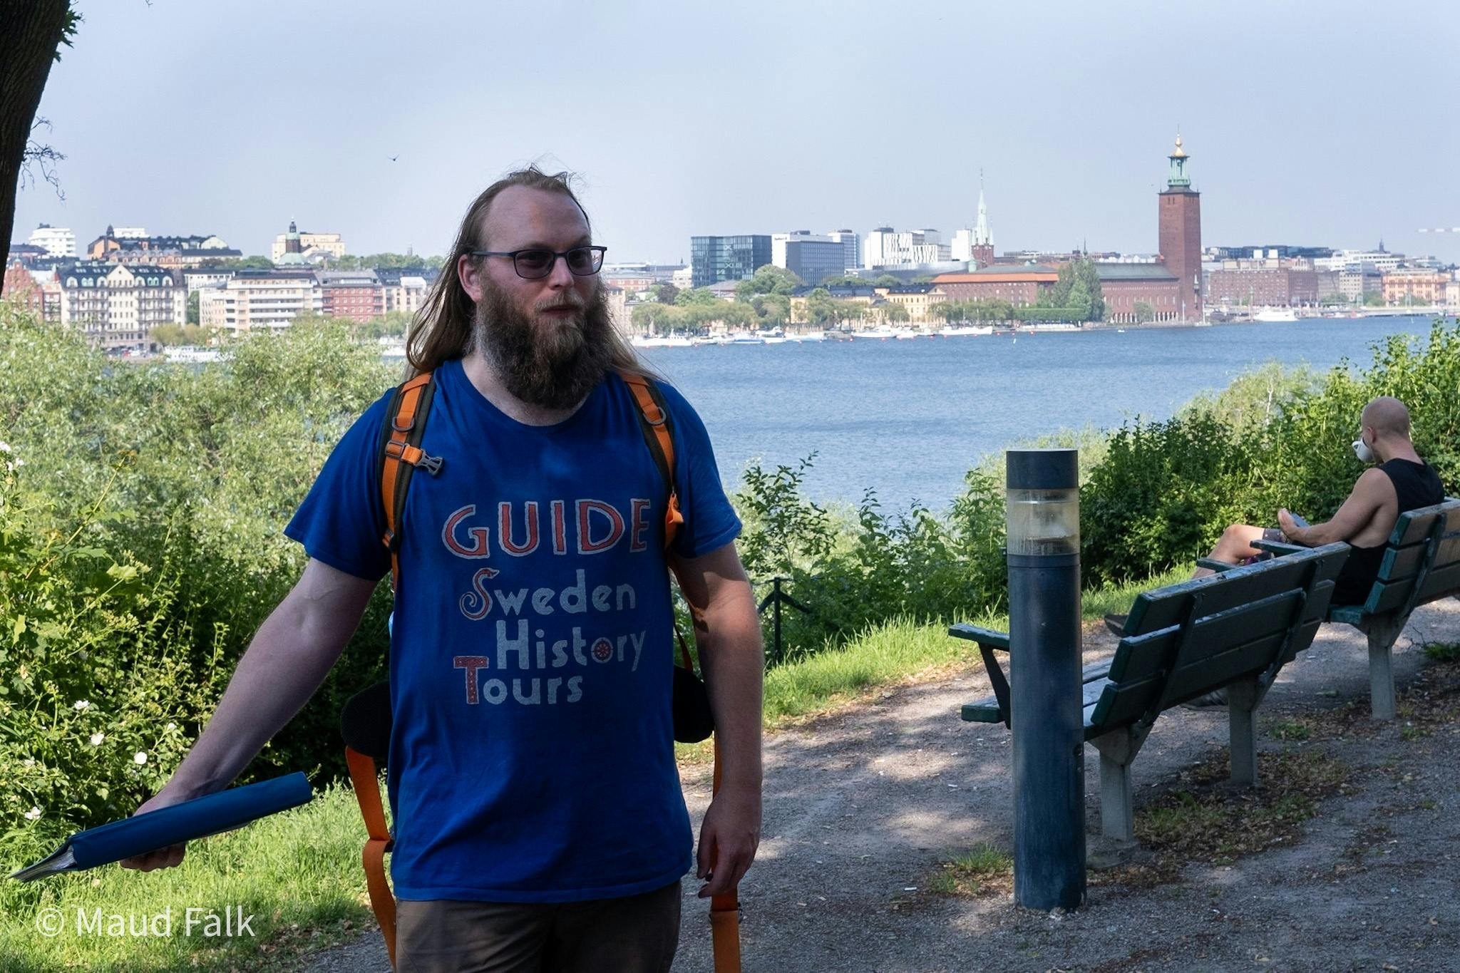
{"label": "sunlit grass patch under the blue folder, bottom left corner", "polygon": [[[26,884],[0,883],[0,970],[296,969],[301,953],[342,942],[362,929],[378,935],[359,865],[364,842],[353,792],[327,786],[301,808],[191,842],[178,868],[143,874],[107,865]],[[15,853],[20,858],[32,850],[41,849]],[[6,871],[20,864],[29,861],[6,862]],[[222,915],[229,906],[254,916],[253,937],[204,938],[201,925],[185,935],[187,909]],[[45,909],[58,909],[64,920],[55,937],[38,931]],[[143,916],[171,912],[171,935],[77,934],[77,910],[89,920],[98,909],[102,916],[137,916],[139,923]]]}

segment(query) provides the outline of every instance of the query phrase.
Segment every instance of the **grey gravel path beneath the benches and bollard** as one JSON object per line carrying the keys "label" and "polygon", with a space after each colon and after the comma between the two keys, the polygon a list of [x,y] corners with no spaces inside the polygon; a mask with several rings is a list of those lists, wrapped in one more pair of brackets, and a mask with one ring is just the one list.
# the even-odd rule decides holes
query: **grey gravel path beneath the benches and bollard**
{"label": "grey gravel path beneath the benches and bollard", "polygon": [[[1310,747],[1349,767],[1348,794],[1324,799],[1295,842],[1231,864],[1188,862],[1153,887],[1092,883],[1086,907],[1063,916],[1016,909],[1006,890],[926,890],[972,845],[1012,846],[1009,734],[958,719],[959,703],[988,693],[981,671],[774,734],[765,837],[740,887],[745,970],[1460,970],[1460,667],[1431,664],[1424,640],[1460,640],[1460,602],[1418,610],[1394,655],[1402,693],[1448,675],[1442,722],[1358,719],[1333,738],[1282,743],[1275,719],[1324,726],[1334,710],[1337,725],[1345,703],[1367,700],[1364,637],[1324,626],[1280,674],[1259,710],[1261,751]],[[1113,648],[1089,635],[1086,662]],[[1137,813],[1225,744],[1225,710],[1164,715],[1134,764]],[[1086,754],[1088,821],[1098,827],[1098,760]],[[698,830],[705,770],[686,772],[685,795]],[[686,881],[676,972],[712,969],[708,906],[694,887]],[[371,935],[301,969],[388,964]]]}

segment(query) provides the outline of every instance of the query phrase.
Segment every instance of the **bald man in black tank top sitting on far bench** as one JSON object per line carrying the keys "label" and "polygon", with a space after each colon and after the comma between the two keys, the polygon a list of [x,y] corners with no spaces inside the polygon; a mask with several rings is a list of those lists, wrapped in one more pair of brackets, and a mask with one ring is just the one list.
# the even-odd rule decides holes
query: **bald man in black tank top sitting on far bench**
{"label": "bald man in black tank top sitting on far bench", "polygon": [[[1362,604],[1378,578],[1384,548],[1399,515],[1441,503],[1445,492],[1434,467],[1415,452],[1415,443],[1409,439],[1409,408],[1397,398],[1383,395],[1364,407],[1353,452],[1359,461],[1377,461],[1378,465],[1359,476],[1333,519],[1307,525],[1283,508],[1278,511],[1278,528],[1232,524],[1222,531],[1222,538],[1209,557],[1228,565],[1247,565],[1272,557],[1253,547],[1256,540],[1286,540],[1304,547],[1348,541],[1353,550],[1339,572],[1333,604]],[[1197,567],[1191,576],[1202,578],[1210,573],[1213,573],[1210,567]],[[1105,624],[1118,635],[1126,617],[1107,616]],[[1226,699],[1218,691],[1191,703],[1225,705]]]}

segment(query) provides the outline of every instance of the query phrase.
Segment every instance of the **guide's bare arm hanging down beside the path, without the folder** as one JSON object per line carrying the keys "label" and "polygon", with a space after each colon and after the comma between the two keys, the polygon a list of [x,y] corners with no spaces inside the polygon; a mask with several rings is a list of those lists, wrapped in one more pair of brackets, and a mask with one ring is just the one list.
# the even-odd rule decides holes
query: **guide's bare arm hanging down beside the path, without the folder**
{"label": "guide's bare arm hanging down beside the path, without the folder", "polygon": [[[720,792],[699,830],[699,897],[734,888],[761,842],[761,689],[765,656],[750,581],[734,544],[680,562],[679,582],[705,610],[701,665],[720,748]],[[712,865],[711,865],[712,862]],[[711,867],[714,872],[711,874]]]}

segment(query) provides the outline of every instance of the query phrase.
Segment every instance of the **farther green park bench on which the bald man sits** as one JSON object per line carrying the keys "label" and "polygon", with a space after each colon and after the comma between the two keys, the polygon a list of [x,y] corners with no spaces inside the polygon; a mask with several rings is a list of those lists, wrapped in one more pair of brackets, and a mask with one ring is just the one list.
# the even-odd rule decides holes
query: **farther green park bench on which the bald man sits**
{"label": "farther green park bench on which the bald man sits", "polygon": [[[1257,547],[1291,557],[1308,548],[1279,541],[1257,541]],[[1225,570],[1231,565],[1200,560]],[[1329,605],[1329,621],[1350,624],[1369,646],[1369,712],[1374,719],[1394,719],[1394,670],[1391,651],[1416,605],[1460,594],[1460,500],[1400,513],[1378,579],[1361,605]]]}

